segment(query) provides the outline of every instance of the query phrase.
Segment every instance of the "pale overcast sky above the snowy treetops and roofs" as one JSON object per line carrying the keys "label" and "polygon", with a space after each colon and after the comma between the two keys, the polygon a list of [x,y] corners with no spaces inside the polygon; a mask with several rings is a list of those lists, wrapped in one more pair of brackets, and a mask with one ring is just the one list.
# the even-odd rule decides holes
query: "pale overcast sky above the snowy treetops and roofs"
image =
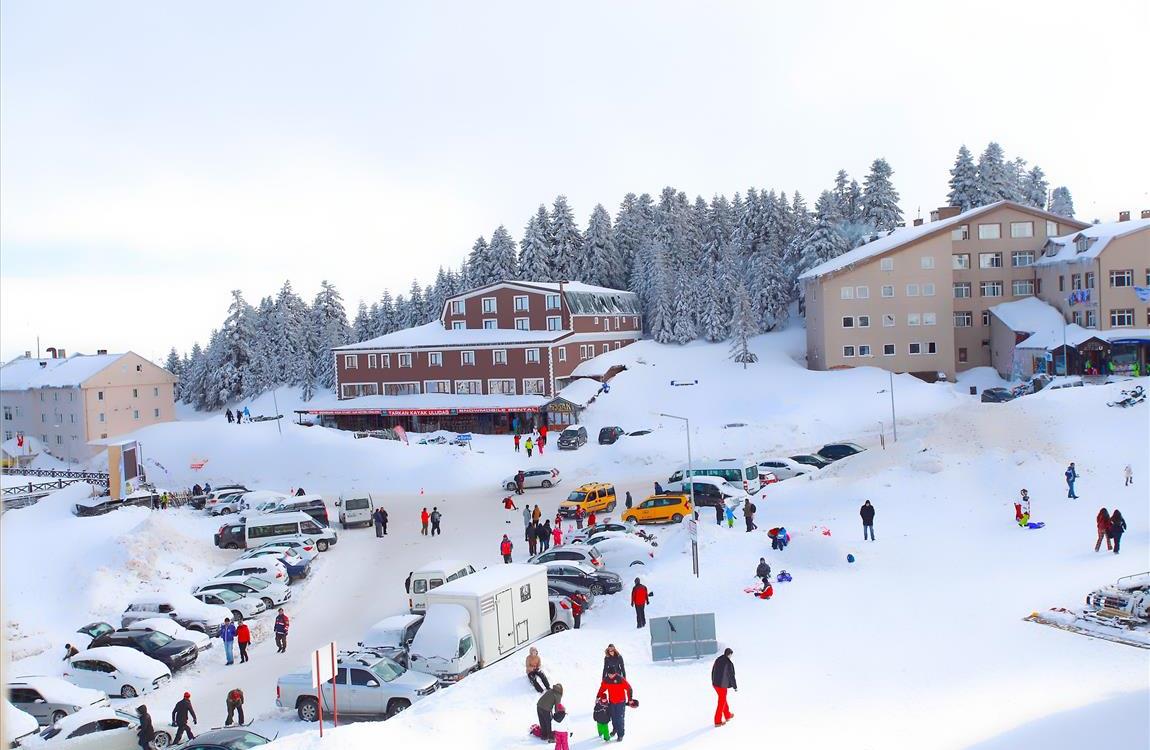
{"label": "pale overcast sky above the snowy treetops and roofs", "polygon": [[0,354],[161,358],[285,278],[353,314],[557,193],[813,204],[884,156],[910,220],[991,139],[1137,215],[1148,8],[5,0]]}

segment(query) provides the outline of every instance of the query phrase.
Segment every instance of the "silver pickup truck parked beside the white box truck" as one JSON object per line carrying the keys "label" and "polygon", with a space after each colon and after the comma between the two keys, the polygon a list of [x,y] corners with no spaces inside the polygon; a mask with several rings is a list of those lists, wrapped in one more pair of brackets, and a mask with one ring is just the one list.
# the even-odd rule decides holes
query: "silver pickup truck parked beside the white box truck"
{"label": "silver pickup truck parked beside the white box truck", "polygon": [[[321,687],[327,710],[332,705],[332,690],[338,690],[339,713],[345,717],[390,719],[416,701],[439,688],[436,678],[412,672],[388,657],[370,652],[340,653],[335,686],[329,680]],[[312,687],[310,668],[285,674],[276,683],[276,705],[294,709],[304,721],[317,721],[320,702]]]}

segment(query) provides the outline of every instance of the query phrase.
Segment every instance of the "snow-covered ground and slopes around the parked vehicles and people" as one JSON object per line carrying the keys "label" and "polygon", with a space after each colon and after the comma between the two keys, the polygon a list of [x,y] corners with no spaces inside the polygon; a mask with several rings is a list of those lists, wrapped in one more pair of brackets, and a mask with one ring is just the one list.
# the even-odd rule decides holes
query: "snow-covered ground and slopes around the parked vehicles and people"
{"label": "snow-covered ground and slopes around the parked vehicles and people", "polygon": [[[715,527],[705,512],[698,581],[684,529],[654,529],[660,546],[643,573],[654,592],[649,617],[716,613],[741,687],[730,725],[711,726],[711,660],[652,664],[647,633],[635,628],[626,592],[597,603],[583,629],[537,644],[544,671],[566,686],[565,727],[576,747],[600,742],[590,712],[608,642],[626,657],[642,703],[628,711],[629,747],[751,747],[769,737],[797,747],[1080,748],[1088,728],[1109,747],[1148,747],[1150,651],[1022,620],[1035,610],[1074,606],[1094,588],[1150,568],[1147,412],[1107,408],[1120,385],[980,404],[965,382],[896,376],[899,439],[892,443],[887,373],[807,372],[795,361],[802,331],[759,337],[754,346],[760,361],[745,370],[727,360],[726,345],[644,342],[612,352],[628,370],[588,411],[591,443],[529,461],[504,437],[476,436],[468,451],[356,441],[288,420],[281,436],[275,423],[235,426],[218,415],[141,430],[136,437],[156,481],[302,484],[329,499],[359,487],[382,497],[391,514],[385,539],[342,531],[314,576],[294,587],[289,653],[262,642],[268,622],[261,620],[250,664],[223,667],[221,650],[212,649],[145,702],[163,717],[186,689],[200,726],[217,726],[225,690],[238,686],[254,728],[278,733],[278,748],[319,747],[314,725],[274,707],[278,675],[302,668],[310,649],[332,638],[351,645],[371,622],[402,611],[402,579],[420,564],[447,556],[497,564],[504,533],[516,541],[515,559],[523,559],[520,518],[501,508],[498,490],[520,466],[562,470],[558,488],[524,498],[552,515],[583,481],[611,481],[642,497],[685,462],[683,427],[662,412],[691,419],[697,459],[790,456],[831,439],[869,450],[813,480],[769,487],[758,500],[757,533],[745,534],[742,521]],[[986,378],[980,388],[999,384],[991,373],[969,377]],[[283,391],[278,398],[281,412],[291,414],[294,404],[285,404]],[[251,410],[273,411],[262,399]],[[723,427],[735,422],[745,426]],[[654,431],[599,446],[593,436],[607,424]],[[190,467],[201,460],[204,469]],[[1079,500],[1066,498],[1061,473],[1071,460],[1082,475]],[[1122,485],[1127,462],[1133,488]],[[1022,487],[1045,528],[1014,523],[1012,503]],[[15,673],[59,673],[60,649],[76,627],[115,622],[135,592],[186,590],[235,554],[212,546],[218,522],[192,511],[130,508],[78,519],[67,511],[69,491],[78,490],[2,520],[5,632]],[[861,541],[864,499],[877,508],[874,543]],[[424,505],[444,513],[443,537],[419,535]],[[1094,516],[1103,505],[1127,518],[1120,556],[1094,552]],[[783,552],[772,551],[765,535],[779,525],[792,536]],[[744,592],[759,557],[793,575],[775,586],[769,602]],[[342,748],[538,745],[527,736],[535,697],[515,655],[394,720],[340,727],[332,736]]]}

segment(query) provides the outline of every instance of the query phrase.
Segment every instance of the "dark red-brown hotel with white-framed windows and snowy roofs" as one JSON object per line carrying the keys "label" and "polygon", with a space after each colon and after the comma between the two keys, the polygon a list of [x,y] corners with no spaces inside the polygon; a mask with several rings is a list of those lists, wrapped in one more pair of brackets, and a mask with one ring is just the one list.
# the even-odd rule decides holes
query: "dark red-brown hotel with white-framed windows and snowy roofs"
{"label": "dark red-brown hotel with white-framed windows and snowy roofs", "polygon": [[[340,427],[498,433],[546,419],[576,366],[637,340],[631,292],[580,282],[505,281],[451,297],[439,320],[336,349]],[[580,392],[585,388],[578,389]]]}

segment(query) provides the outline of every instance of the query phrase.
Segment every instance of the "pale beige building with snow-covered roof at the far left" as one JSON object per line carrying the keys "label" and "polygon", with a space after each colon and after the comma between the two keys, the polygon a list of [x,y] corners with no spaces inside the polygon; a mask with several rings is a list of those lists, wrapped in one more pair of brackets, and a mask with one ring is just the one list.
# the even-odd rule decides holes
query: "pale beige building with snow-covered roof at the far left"
{"label": "pale beige building with snow-covered roof at the far left", "polygon": [[99,441],[176,419],[176,376],[139,354],[48,351],[0,368],[5,442],[34,437],[45,452],[82,461],[102,450]]}

